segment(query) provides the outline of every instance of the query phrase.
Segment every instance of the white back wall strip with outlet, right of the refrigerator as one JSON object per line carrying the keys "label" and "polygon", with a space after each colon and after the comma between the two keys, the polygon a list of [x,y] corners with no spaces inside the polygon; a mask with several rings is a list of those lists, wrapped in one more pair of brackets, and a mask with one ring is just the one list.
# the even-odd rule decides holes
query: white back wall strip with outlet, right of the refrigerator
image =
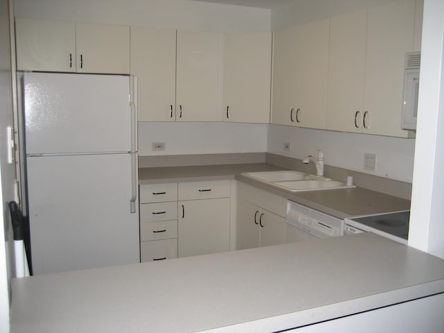
{"label": "white back wall strip with outlet, right of the refrigerator", "polygon": [[[266,151],[267,125],[253,123],[139,123],[139,155]],[[165,151],[153,151],[165,142]]]}

